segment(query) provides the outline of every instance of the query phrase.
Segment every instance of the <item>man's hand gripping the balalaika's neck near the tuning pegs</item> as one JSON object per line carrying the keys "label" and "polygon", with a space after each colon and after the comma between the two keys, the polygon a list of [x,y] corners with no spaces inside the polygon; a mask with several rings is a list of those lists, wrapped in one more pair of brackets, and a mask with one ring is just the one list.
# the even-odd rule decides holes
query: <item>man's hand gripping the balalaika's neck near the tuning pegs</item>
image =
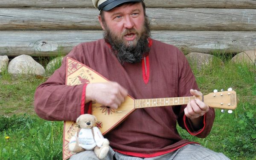
{"label": "man's hand gripping the balalaika's neck near the tuning pegs", "polygon": [[[190,90],[193,96],[202,96],[203,94],[198,90]],[[184,109],[186,117],[188,117],[195,128],[201,127],[202,116],[209,111],[209,106],[202,102],[200,99],[192,99],[187,107]]]}

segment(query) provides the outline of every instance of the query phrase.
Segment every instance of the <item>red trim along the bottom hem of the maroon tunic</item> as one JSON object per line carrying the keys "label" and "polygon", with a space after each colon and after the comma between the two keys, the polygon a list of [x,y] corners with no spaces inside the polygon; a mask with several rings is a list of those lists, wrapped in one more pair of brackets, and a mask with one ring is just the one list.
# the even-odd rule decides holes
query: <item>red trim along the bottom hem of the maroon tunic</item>
{"label": "red trim along the bottom hem of the maroon tunic", "polygon": [[[171,149],[171,150],[168,150],[168,151],[160,151],[160,152],[156,152],[156,153],[153,153],[153,154],[143,154],[143,153],[136,153],[136,152],[129,152],[129,151],[118,151],[116,149],[113,149],[114,151],[117,151],[119,153],[122,153],[122,154],[125,154],[125,155],[129,155],[129,156],[134,156],[134,157],[142,157],[142,158],[151,158],[151,157],[157,157],[157,156],[160,156],[160,155],[163,155],[163,154],[167,154],[167,153],[170,153],[172,151],[175,151],[185,145],[188,145],[188,144],[191,144],[191,143],[196,143],[196,142],[188,142],[188,143],[185,143],[183,145],[180,145],[178,146],[177,148],[174,148],[174,149]],[[199,143],[196,143],[196,144],[199,144]]]}

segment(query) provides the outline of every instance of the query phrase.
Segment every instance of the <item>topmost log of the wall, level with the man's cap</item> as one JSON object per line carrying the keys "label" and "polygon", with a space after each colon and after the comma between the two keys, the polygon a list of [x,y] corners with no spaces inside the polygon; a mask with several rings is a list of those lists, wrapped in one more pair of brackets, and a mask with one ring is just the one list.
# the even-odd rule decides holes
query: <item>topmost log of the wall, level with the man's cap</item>
{"label": "topmost log of the wall, level with the man's cap", "polygon": [[[247,8],[255,0],[144,0],[151,8]],[[93,7],[91,0],[1,0],[0,7]]]}

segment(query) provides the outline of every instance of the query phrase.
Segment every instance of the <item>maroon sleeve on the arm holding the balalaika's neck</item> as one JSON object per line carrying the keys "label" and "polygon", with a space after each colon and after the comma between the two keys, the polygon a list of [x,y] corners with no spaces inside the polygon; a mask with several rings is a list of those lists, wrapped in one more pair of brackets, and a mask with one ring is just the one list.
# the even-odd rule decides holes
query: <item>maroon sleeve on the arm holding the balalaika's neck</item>
{"label": "maroon sleeve on the arm holding the balalaika's neck", "polygon": [[[186,57],[181,53],[179,55],[180,61],[178,64],[178,72],[179,72],[179,78],[178,78],[178,95],[179,96],[192,96],[189,92],[190,89],[196,89],[199,90],[198,85],[195,81],[195,76],[192,73],[191,68],[189,67],[189,63],[186,60]],[[194,136],[204,138],[207,137],[209,132],[212,129],[212,125],[215,118],[215,112],[213,108],[210,108],[209,111],[204,114],[204,118],[202,120],[202,128],[199,130],[195,130],[193,128],[192,122],[189,120],[189,118],[186,117],[184,113],[184,109],[186,108],[186,105],[181,105],[180,110],[178,113],[178,124],[183,128],[186,129],[186,131],[189,132],[189,134],[192,134]]]}

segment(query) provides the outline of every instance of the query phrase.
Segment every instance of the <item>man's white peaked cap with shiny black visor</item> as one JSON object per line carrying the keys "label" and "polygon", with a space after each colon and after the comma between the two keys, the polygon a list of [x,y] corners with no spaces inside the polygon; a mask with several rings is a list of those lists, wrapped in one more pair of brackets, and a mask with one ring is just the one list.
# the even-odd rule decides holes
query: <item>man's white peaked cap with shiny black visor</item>
{"label": "man's white peaked cap with shiny black visor", "polygon": [[116,6],[129,2],[142,2],[143,0],[92,0],[94,7],[99,10],[109,11]]}

